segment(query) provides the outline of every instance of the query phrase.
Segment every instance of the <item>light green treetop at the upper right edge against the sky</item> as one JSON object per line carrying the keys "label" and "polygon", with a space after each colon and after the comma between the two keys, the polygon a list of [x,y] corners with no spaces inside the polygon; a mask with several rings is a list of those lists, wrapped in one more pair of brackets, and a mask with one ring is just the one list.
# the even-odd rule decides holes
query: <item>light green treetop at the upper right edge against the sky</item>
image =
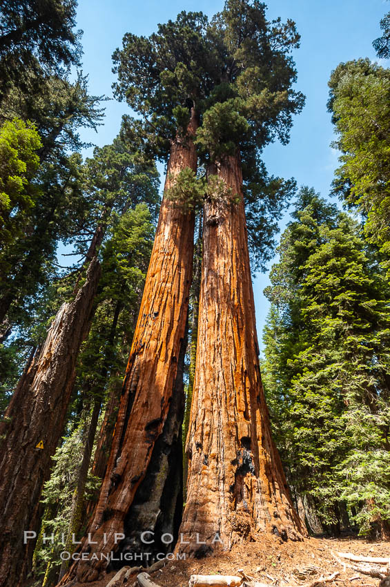
{"label": "light green treetop at the upper right edge against the sky", "polygon": [[340,64],[329,81],[329,110],[342,155],[334,191],[364,216],[367,238],[389,267],[390,70],[358,59]]}

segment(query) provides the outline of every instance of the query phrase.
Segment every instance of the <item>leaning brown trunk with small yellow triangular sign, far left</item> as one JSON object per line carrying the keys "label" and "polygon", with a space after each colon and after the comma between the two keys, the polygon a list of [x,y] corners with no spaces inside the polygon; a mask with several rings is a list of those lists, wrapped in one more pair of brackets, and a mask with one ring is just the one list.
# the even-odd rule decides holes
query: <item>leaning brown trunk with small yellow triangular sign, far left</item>
{"label": "leaning brown trunk with small yellow triangular sign, far left", "polygon": [[[94,258],[86,282],[57,312],[37,360],[23,374],[0,425],[0,586],[24,585],[37,510],[75,381],[79,347],[88,333],[100,267]],[[42,441],[43,449],[36,448]]]}

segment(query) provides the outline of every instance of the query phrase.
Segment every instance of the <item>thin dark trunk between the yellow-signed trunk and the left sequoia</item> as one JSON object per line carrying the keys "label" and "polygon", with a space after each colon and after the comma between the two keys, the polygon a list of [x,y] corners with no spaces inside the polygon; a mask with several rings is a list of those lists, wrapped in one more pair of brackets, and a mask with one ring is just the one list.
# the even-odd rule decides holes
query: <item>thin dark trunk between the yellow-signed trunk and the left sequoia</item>
{"label": "thin dark trunk between the yellow-signed trunk and the left sequoia", "polygon": [[[77,488],[75,490],[75,496],[72,503],[72,512],[70,514],[68,537],[66,538],[65,548],[66,552],[73,552],[72,548],[72,537],[77,535],[81,525],[81,514],[84,506],[84,493],[86,489],[86,482],[88,478],[88,469],[90,465],[90,457],[92,454],[93,441],[95,440],[95,434],[97,429],[97,421],[99,420],[101,401],[99,398],[95,398],[93,403],[92,416],[90,418],[90,425],[88,427],[88,434],[86,438],[86,444],[84,445],[84,454],[81,461],[79,470],[79,479],[77,479]],[[64,577],[66,570],[68,569],[69,561],[62,561],[61,569],[59,571],[59,579]]]}

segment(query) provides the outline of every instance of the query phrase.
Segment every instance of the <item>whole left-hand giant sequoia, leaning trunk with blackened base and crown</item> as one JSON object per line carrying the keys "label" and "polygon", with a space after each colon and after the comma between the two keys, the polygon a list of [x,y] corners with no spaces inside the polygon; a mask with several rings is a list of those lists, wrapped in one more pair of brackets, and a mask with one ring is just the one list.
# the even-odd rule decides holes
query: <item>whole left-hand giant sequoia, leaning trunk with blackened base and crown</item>
{"label": "whole left-hand giant sequoia, leaning trunk with blackened base and crown", "polygon": [[[125,35],[123,50],[114,55],[117,94],[144,115],[146,139],[157,129],[154,145],[140,137],[142,124],[128,125],[128,135],[138,138],[144,151],[153,147],[160,157],[169,158],[110,459],[89,528],[96,544],[84,546],[98,556],[77,566],[81,581],[99,576],[107,566],[99,555],[113,550],[115,533],[125,527],[128,540],[121,548],[128,550],[139,546],[137,537],[130,534],[137,524],[147,523],[153,529],[164,523],[165,528],[177,531],[177,511],[182,508],[182,473],[177,462],[182,461],[182,369],[194,213],[175,206],[166,192],[180,173],[193,173],[197,167],[193,137],[198,102],[209,79],[205,23],[202,15],[182,12],[175,23],[160,25],[148,39]],[[160,510],[162,494],[166,507]],[[70,575],[74,572],[72,568]]]}

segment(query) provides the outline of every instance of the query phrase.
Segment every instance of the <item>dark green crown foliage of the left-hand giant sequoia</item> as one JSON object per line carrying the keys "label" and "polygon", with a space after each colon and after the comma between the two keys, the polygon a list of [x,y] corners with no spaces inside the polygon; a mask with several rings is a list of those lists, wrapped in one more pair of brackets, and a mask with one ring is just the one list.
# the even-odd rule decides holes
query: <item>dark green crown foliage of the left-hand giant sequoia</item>
{"label": "dark green crown foliage of the left-hand giant sequoia", "polygon": [[218,75],[219,57],[206,28],[202,12],[183,11],[150,37],[126,33],[123,48],[113,54],[115,95],[142,115],[144,133],[153,133],[148,138],[164,162],[170,140],[186,132],[193,106],[199,115]]}

